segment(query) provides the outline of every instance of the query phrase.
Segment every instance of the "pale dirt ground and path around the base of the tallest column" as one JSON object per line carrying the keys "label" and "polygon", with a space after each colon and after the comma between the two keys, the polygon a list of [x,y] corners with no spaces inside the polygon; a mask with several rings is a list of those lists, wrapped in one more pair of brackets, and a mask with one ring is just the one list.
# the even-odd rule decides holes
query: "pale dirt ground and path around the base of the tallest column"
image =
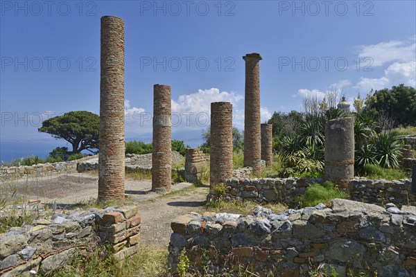
{"label": "pale dirt ground and path around the base of the tallest column", "polygon": [[[21,179],[10,184],[1,184],[0,197],[10,195],[17,190],[10,203],[22,204],[28,199],[41,199],[43,204],[52,204],[53,208],[71,208],[73,204],[82,204],[96,199],[98,195],[98,176],[73,173],[32,179]],[[132,204],[139,205],[141,215],[141,243],[167,249],[171,235],[171,221],[177,215],[190,211],[202,212],[202,206],[209,191],[207,187],[191,187],[189,183],[173,186],[175,193],[159,195],[150,193],[151,180],[125,180],[125,193],[129,194]]]}

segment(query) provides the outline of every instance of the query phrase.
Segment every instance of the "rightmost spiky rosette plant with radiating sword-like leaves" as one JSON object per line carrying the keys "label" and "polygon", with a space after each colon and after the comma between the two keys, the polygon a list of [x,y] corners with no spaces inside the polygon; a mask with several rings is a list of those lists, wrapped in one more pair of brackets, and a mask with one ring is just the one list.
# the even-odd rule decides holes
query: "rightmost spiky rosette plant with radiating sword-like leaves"
{"label": "rightmost spiky rosette plant with radiating sword-like leaves", "polygon": [[399,168],[401,145],[391,134],[379,134],[373,137],[375,158],[383,168]]}

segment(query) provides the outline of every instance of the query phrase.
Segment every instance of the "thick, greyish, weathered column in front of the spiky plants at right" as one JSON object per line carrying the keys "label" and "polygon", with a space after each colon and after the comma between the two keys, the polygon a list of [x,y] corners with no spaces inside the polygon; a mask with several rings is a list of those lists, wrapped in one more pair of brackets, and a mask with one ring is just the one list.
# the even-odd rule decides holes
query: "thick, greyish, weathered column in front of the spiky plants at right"
{"label": "thick, greyish, weathered column in front of the spiky plants at right", "polygon": [[345,190],[354,179],[354,118],[329,120],[325,125],[325,179]]}

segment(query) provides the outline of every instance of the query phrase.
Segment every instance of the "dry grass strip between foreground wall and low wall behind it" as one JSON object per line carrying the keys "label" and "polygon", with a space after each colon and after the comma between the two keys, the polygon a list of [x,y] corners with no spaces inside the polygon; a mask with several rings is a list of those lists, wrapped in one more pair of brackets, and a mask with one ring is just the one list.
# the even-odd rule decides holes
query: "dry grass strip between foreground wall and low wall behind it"
{"label": "dry grass strip between foreground wall and low wall behind it", "polygon": [[286,211],[288,208],[284,204],[280,203],[262,203],[259,204],[253,201],[239,201],[239,200],[230,200],[228,202],[223,199],[218,199],[216,201],[207,202],[205,204],[205,209],[208,212],[214,213],[238,213],[241,215],[250,215],[258,206],[264,208],[270,208],[274,213],[280,213],[281,211]]}

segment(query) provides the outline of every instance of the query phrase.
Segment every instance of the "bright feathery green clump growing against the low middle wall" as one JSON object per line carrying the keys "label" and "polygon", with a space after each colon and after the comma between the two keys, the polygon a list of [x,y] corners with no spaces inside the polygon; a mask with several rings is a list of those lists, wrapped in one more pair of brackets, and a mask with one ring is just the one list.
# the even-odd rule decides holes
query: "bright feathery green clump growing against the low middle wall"
{"label": "bright feathery green clump growing against the low middle wall", "polygon": [[347,198],[347,194],[341,191],[330,181],[325,181],[324,184],[311,184],[306,188],[304,195],[296,197],[295,201],[299,202],[302,208],[313,207],[320,203],[329,204],[335,198]]}

